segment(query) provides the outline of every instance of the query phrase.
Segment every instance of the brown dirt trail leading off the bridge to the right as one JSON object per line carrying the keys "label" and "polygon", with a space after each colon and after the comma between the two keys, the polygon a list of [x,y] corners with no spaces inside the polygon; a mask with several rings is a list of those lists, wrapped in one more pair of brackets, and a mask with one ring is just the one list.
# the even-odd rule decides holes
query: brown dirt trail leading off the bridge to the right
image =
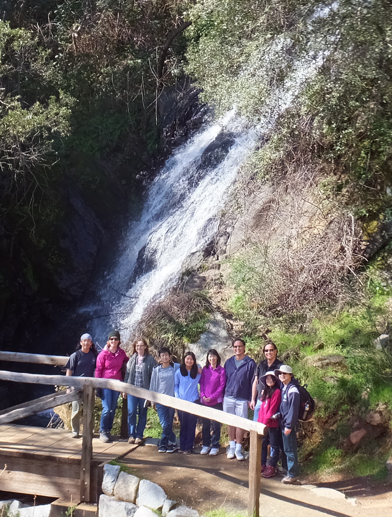
{"label": "brown dirt trail leading off the bridge to the right", "polygon": [[[135,475],[158,483],[168,497],[197,509],[201,515],[220,507],[245,513],[248,499],[248,461],[228,460],[221,452],[217,457],[201,456],[200,448],[187,456],[182,453],[162,454],[157,447],[135,448],[119,459]],[[343,491],[356,497],[353,506],[345,499],[330,499],[315,495],[301,486],[283,485],[281,477],[262,479],[260,515],[290,517],[380,517],[392,514],[390,485],[379,486],[378,495],[365,495],[366,490],[355,480],[351,482],[320,483],[319,486]]]}

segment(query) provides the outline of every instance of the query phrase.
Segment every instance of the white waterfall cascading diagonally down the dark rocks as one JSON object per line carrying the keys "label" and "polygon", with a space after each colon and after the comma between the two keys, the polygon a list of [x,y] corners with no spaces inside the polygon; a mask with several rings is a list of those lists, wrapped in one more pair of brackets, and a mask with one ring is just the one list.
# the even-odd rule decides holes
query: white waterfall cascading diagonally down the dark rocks
{"label": "white waterfall cascading diagonally down the dark rocks", "polygon": [[[335,2],[325,9],[337,7]],[[325,9],[315,17],[326,16]],[[284,44],[277,40],[273,45],[280,48]],[[233,109],[169,158],[148,189],[140,219],[125,232],[116,264],[101,278],[97,290],[99,303],[80,310],[94,317],[110,315],[91,320],[90,331],[95,339],[101,341],[113,327],[120,329],[123,340],[126,339],[148,303],[161,299],[178,281],[185,258],[212,240],[219,211],[240,165],[260,136],[273,127],[277,116],[290,107],[327,55],[328,50],[319,49],[316,55],[310,52],[292,64],[292,72],[266,100],[264,116],[257,127],[249,127]],[[211,164],[208,159],[203,163],[203,153],[222,134],[230,140],[224,159],[218,164]],[[143,261],[147,267],[138,271],[138,264]],[[124,294],[119,296],[121,293]]]}

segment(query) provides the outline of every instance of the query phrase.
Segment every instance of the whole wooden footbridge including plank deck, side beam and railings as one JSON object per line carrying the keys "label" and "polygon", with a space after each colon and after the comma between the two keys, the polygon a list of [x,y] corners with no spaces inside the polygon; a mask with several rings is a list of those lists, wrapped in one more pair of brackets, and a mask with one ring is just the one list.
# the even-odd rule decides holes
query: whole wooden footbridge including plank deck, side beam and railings
{"label": "whole wooden footbridge including plank deck, side beam and railings", "polygon": [[[64,366],[68,357],[0,352],[0,360]],[[0,371],[0,380],[74,387],[71,393],[53,393],[0,412],[2,490],[57,497],[59,501],[70,501],[72,495],[74,503],[98,503],[103,465],[137,447],[125,441],[104,444],[94,437],[94,389],[109,388],[249,431],[248,513],[259,517],[261,442],[267,431],[265,425],[112,379],[35,375],[3,370]],[[80,398],[83,398],[82,440],[71,438],[69,431],[65,430],[11,423]]]}

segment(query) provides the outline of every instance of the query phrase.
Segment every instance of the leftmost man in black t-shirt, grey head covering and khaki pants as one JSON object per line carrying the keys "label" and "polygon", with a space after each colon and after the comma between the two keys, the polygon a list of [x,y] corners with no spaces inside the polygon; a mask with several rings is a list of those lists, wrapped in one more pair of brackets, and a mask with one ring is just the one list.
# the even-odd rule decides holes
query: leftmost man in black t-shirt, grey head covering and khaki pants
{"label": "leftmost man in black t-shirt, grey head covering and khaki pants", "polygon": [[[94,377],[97,352],[90,334],[83,334],[80,338],[80,348],[68,359],[65,368],[67,376]],[[68,392],[68,391],[67,391]],[[71,428],[72,438],[79,438],[80,414],[82,411],[82,399],[72,402]]]}

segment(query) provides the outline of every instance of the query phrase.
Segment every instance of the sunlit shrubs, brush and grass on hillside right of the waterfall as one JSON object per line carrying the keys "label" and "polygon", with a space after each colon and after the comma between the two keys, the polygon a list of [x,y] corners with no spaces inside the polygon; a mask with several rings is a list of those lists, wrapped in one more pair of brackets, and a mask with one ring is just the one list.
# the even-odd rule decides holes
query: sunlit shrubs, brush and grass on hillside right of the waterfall
{"label": "sunlit shrubs, brush and grass on hillside right of the waterfall", "polygon": [[[232,208],[246,213],[246,193],[277,192],[274,209],[261,209],[264,240],[248,241],[223,263],[222,308],[243,322],[255,358],[267,331],[316,399],[314,422],[301,433],[304,469],[382,479],[392,357],[373,340],[389,333],[391,317],[392,25],[387,2],[337,5],[197,1],[189,10],[187,71],[217,113],[235,104],[265,128]],[[318,235],[301,226],[304,213],[281,192],[315,207]],[[297,215],[294,237],[276,230],[284,210]],[[331,355],[341,362],[312,366]],[[355,420],[371,410],[382,415],[379,439],[354,447]]]}

